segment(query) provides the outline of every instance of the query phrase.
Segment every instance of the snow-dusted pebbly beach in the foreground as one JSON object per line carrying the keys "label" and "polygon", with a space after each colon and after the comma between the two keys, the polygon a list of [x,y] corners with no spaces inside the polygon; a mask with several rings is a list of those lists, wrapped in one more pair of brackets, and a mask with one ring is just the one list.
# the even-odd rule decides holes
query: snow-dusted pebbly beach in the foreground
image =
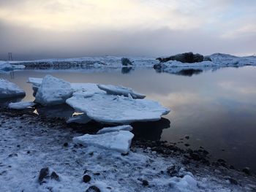
{"label": "snow-dusted pebbly beach in the foreground", "polygon": [[[224,166],[181,164],[182,155],[162,155],[135,145],[128,155],[81,147],[78,126],[29,112],[0,112],[0,191],[255,191],[256,179]],[[88,129],[88,132],[97,130]],[[181,169],[179,169],[179,166]],[[49,167],[59,180],[38,182]],[[83,182],[83,176],[86,181]],[[91,178],[91,180],[89,180]]]}

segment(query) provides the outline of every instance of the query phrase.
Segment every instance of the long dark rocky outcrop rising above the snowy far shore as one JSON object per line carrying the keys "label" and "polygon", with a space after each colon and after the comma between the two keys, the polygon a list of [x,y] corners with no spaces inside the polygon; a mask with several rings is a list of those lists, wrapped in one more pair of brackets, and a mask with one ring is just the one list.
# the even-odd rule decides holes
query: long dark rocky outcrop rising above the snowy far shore
{"label": "long dark rocky outcrop rising above the snowy far shore", "polygon": [[181,53],[178,55],[172,55],[167,58],[157,58],[160,63],[165,63],[167,61],[180,61],[181,63],[198,63],[202,61],[211,61],[211,58],[209,57],[204,57],[203,55],[200,54],[194,54],[192,52],[189,53]]}

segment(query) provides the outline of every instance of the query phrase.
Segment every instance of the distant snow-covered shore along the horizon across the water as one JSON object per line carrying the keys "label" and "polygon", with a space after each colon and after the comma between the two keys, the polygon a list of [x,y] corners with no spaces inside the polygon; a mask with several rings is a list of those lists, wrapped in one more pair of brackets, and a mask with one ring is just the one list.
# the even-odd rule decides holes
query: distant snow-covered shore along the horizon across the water
{"label": "distant snow-covered shore along the horizon across the water", "polygon": [[[0,61],[1,65],[11,64],[12,66],[87,66],[94,68],[121,68],[121,58],[116,56],[104,57],[84,57],[84,58],[50,58],[34,61]],[[146,57],[128,57],[132,61],[132,66],[135,67],[153,67],[159,64],[155,58]],[[235,55],[228,55],[223,53],[214,53],[208,55],[211,61],[203,61],[194,64],[183,64],[179,61],[167,61],[165,66],[182,67],[182,68],[204,68],[204,67],[223,67],[223,66],[245,66],[256,65],[256,56],[238,57]],[[1,69],[1,68],[0,68]]]}

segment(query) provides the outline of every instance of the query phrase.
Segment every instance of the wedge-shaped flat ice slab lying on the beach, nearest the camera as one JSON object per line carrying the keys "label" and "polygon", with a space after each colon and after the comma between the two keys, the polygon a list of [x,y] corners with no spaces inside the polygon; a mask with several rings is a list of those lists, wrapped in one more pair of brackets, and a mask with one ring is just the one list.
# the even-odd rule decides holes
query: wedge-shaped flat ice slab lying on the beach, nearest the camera
{"label": "wedge-shaped flat ice slab lying on the beach, nearest the camera", "polygon": [[81,145],[92,145],[107,150],[116,150],[120,153],[128,153],[134,134],[129,131],[116,131],[105,134],[85,134],[74,137],[73,142]]}

